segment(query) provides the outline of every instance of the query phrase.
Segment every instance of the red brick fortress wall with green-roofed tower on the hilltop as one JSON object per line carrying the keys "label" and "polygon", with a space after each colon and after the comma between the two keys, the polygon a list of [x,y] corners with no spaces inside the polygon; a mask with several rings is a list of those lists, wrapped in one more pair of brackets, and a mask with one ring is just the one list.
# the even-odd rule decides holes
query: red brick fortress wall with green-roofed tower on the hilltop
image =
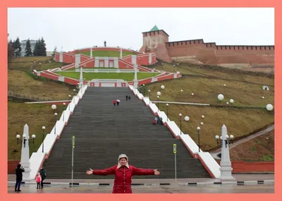
{"label": "red brick fortress wall with green-roofed tower on the hilltop", "polygon": [[274,67],[274,46],[216,45],[204,39],[168,42],[168,34],[155,25],[143,32],[140,51],[154,52],[158,59],[231,68]]}

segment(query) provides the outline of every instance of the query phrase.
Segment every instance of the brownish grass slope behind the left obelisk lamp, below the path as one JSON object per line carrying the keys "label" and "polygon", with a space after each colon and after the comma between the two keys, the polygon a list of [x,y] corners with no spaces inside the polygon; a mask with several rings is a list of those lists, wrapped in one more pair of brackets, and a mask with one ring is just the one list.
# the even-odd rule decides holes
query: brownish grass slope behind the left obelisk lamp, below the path
{"label": "brownish grass slope behind the left obelisk lamp, below the path", "polygon": [[19,160],[21,145],[17,144],[16,133],[23,135],[25,123],[30,128],[30,137],[35,134],[35,144],[30,145],[30,155],[37,152],[42,143],[42,126],[46,127],[45,137],[54,127],[54,113],[61,117],[62,105],[57,105],[56,111],[50,104],[25,104],[8,102],[8,159]]}

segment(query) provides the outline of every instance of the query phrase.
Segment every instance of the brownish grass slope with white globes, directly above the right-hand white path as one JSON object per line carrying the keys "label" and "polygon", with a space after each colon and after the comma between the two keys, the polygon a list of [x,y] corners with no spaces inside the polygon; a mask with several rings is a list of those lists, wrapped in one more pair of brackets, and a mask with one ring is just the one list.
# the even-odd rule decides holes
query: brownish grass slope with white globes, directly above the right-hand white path
{"label": "brownish grass slope with white globes, directly above the right-hand white path", "polygon": [[[165,86],[164,90],[161,90],[161,85]],[[266,91],[262,90],[262,85],[184,76],[180,79],[152,83],[149,89],[152,100],[157,100],[157,92],[160,91],[161,101],[227,105],[226,102],[233,99],[234,103],[230,104],[232,106],[265,107],[266,104],[274,104],[274,87],[269,87],[270,90]],[[219,94],[224,96],[221,102],[217,99]]]}

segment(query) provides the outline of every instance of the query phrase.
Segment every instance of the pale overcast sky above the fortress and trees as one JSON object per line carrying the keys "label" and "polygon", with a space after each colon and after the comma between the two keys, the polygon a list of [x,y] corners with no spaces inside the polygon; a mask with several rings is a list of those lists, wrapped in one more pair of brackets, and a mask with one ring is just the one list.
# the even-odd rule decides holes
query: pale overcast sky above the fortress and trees
{"label": "pale overcast sky above the fortress and trees", "polygon": [[94,45],[140,49],[157,25],[169,41],[274,45],[274,8],[8,8],[9,39],[44,37],[47,51]]}

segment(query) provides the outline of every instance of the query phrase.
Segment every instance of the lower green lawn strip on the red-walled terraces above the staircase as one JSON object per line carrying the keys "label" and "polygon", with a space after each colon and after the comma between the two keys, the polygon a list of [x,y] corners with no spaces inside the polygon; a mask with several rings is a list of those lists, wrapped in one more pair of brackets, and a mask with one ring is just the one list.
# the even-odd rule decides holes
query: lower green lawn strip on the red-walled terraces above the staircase
{"label": "lower green lawn strip on the red-walled terraces above the staircase", "polygon": [[[56,72],[59,75],[63,75],[68,78],[80,78],[79,72]],[[159,73],[137,73],[137,79],[142,80],[159,75]],[[85,80],[93,79],[122,79],[125,81],[132,81],[134,79],[134,73],[83,73]]]}

